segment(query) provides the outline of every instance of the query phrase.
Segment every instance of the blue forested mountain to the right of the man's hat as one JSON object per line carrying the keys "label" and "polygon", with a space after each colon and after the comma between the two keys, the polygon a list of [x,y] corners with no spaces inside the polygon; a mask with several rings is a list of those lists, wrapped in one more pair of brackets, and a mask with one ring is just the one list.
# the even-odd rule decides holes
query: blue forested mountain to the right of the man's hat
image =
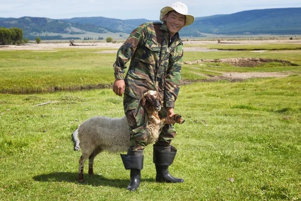
{"label": "blue forested mountain to the right of the man's hat", "polygon": [[183,29],[211,34],[301,34],[301,8],[264,9],[196,18]]}

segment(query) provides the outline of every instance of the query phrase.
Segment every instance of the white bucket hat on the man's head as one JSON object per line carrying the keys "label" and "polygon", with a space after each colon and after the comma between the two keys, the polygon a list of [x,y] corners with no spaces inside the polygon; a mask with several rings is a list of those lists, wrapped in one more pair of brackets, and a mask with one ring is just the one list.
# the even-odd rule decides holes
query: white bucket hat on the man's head
{"label": "white bucket hat on the man's head", "polygon": [[176,2],[172,4],[170,7],[164,7],[160,12],[160,20],[164,22],[165,15],[170,11],[176,11],[179,14],[186,16],[186,24],[185,26],[191,25],[194,22],[194,17],[192,15],[188,15],[188,8],[182,2]]}

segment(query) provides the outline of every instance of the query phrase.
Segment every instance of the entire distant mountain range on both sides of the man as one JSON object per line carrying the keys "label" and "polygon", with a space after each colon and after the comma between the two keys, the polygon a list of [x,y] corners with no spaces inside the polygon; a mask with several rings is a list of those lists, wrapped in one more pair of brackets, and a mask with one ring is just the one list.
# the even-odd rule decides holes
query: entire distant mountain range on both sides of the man
{"label": "entire distant mountain range on both sides of the man", "polygon": [[[0,14],[1,15],[1,14]],[[230,15],[197,17],[195,22],[180,31],[181,36],[204,36],[208,34],[301,34],[301,8],[263,9],[243,11]],[[118,33],[129,34],[146,19],[118,20],[104,17],[85,17],[52,20],[49,18],[0,18],[0,27],[18,27],[24,35],[52,32],[84,34]],[[157,21],[158,22],[158,21]]]}

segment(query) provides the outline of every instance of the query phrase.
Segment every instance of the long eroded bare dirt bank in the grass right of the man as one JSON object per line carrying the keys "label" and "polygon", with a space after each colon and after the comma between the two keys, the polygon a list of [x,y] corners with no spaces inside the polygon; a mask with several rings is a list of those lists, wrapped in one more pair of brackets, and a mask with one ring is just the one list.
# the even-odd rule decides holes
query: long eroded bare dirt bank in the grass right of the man
{"label": "long eroded bare dirt bank in the grass right of the man", "polygon": [[185,64],[196,63],[229,63],[237,67],[254,67],[268,62],[279,62],[288,66],[298,66],[297,64],[290,63],[289,61],[278,59],[264,59],[264,58],[225,58],[225,59],[200,59],[195,61],[185,61]]}

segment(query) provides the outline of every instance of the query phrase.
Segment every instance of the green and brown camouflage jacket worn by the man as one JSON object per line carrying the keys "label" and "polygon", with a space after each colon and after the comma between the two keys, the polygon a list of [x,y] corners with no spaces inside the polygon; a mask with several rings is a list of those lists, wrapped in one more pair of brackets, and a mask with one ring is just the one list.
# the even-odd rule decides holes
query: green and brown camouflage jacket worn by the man
{"label": "green and brown camouflage jacket worn by the man", "polygon": [[183,42],[177,33],[171,37],[166,24],[145,23],[132,31],[117,52],[114,63],[116,79],[123,79],[126,62],[130,65],[124,78],[125,93],[136,99],[145,90],[157,90],[164,106],[174,108],[181,81]]}

